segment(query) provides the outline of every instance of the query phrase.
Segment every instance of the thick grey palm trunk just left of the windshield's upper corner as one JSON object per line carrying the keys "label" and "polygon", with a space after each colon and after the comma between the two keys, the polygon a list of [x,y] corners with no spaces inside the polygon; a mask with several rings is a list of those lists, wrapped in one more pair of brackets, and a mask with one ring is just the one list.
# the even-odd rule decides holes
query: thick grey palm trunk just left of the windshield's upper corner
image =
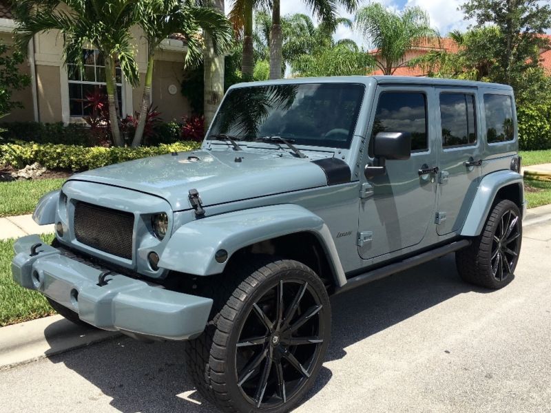
{"label": "thick grey palm trunk just left of the windshield's upper corner", "polygon": [[[214,0],[211,6],[222,14],[224,13],[224,0]],[[218,105],[224,96],[224,56],[215,56],[211,37],[204,34],[205,51],[203,52],[203,79],[205,87],[203,97],[205,100],[203,113],[205,114],[205,131],[211,124]]]}

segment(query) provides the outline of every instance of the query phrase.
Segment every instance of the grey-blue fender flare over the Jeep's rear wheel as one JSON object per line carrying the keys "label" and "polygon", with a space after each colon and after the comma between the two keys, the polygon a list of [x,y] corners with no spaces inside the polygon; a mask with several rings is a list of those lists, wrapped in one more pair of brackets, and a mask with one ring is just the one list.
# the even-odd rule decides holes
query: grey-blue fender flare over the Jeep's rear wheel
{"label": "grey-blue fender flare over the Jeep's rear wheel", "polygon": [[514,171],[497,171],[482,178],[477,195],[472,200],[469,213],[461,229],[461,235],[475,237],[482,232],[497,192],[499,189],[510,184],[519,184],[521,202],[524,202],[523,180],[519,173]]}

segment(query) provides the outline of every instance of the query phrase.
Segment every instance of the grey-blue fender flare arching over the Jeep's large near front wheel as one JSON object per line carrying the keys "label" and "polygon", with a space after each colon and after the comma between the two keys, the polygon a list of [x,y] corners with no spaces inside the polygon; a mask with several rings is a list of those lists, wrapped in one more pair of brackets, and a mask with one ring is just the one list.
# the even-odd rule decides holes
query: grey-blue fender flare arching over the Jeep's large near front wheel
{"label": "grey-blue fender flare arching over the Jeep's large near front wheel", "polygon": [[228,257],[240,248],[291,233],[310,232],[318,237],[328,255],[335,282],[346,283],[335,243],[322,218],[295,204],[245,209],[194,220],[170,237],[158,266],[193,275],[214,275],[226,262],[216,262],[216,251]]}

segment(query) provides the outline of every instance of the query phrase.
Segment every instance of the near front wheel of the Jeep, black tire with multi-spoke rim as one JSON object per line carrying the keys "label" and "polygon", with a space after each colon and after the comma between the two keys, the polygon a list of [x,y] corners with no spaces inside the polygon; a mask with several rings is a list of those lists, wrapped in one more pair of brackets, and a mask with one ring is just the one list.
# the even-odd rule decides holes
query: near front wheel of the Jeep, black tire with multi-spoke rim
{"label": "near front wheel of the Jeep, black tire with multi-spoke rim", "polygon": [[233,266],[224,279],[205,332],[186,343],[196,388],[224,412],[289,412],[313,385],[329,346],[326,288],[308,266],[273,257]]}

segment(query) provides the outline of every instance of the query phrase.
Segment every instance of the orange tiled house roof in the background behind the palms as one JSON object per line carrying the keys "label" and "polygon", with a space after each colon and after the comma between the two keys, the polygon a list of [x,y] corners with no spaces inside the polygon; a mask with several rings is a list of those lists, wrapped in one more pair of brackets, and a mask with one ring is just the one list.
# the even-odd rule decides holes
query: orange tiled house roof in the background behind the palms
{"label": "orange tiled house roof in the background behind the palms", "polygon": [[[551,40],[551,34],[542,34],[542,36]],[[427,54],[433,50],[445,50],[446,52],[457,53],[459,47],[457,43],[449,37],[442,37],[441,39],[435,40],[423,39],[417,45],[412,47],[411,50],[406,52],[398,67],[395,68],[395,72],[393,74],[395,76],[426,76],[426,72],[424,72],[421,67],[407,67],[406,63],[408,63],[411,59]],[[373,56],[377,61],[380,61],[379,50],[371,50],[369,54],[371,54],[371,56]],[[540,50],[540,58],[543,69],[549,76],[551,76],[551,50]],[[377,69],[371,74],[383,74],[383,71]]]}

